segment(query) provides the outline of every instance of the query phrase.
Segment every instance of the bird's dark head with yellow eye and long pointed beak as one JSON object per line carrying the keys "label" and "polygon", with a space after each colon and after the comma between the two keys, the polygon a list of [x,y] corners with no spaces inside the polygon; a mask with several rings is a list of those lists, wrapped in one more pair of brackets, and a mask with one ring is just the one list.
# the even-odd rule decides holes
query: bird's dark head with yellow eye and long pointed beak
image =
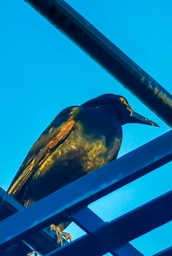
{"label": "bird's dark head with yellow eye and long pointed beak", "polygon": [[138,123],[159,127],[154,121],[136,113],[127,99],[116,94],[103,94],[82,104],[82,106],[105,108],[120,121],[120,124]]}

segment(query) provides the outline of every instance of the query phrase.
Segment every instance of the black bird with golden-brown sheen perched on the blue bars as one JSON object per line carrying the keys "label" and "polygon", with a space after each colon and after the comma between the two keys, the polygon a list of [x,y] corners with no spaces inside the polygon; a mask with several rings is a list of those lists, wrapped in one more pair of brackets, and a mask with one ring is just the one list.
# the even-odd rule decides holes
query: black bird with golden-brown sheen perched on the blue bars
{"label": "black bird with golden-brown sheen perched on the blue bars", "polygon": [[[69,184],[86,173],[117,158],[122,143],[122,125],[155,122],[134,112],[127,99],[103,94],[81,106],[62,110],[36,140],[10,184],[8,193],[24,206]],[[70,239],[62,230],[55,230]]]}

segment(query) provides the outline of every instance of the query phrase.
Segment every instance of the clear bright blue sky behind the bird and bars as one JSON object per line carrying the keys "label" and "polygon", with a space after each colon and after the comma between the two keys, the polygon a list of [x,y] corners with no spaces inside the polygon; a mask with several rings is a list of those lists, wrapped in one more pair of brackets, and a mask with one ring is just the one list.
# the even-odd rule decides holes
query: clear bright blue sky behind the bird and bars
{"label": "clear bright blue sky behind the bird and bars", "polygon": [[[97,29],[171,91],[171,0],[69,0]],[[23,0],[0,1],[1,175],[7,189],[28,149],[60,110],[103,93],[122,94],[160,128],[126,125],[120,155],[170,128]],[[172,164],[90,206],[109,221],[171,190]],[[111,206],[109,208],[109,205]],[[69,232],[76,238],[74,225]],[[172,224],[133,241],[149,256],[172,245]]]}

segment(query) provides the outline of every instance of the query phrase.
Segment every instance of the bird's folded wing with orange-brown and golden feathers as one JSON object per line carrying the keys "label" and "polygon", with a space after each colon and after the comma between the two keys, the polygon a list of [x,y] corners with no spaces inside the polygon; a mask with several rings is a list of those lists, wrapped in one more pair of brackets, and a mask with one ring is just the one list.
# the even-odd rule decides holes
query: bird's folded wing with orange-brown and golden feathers
{"label": "bird's folded wing with orange-brown and golden feathers", "polygon": [[17,171],[15,178],[9,186],[9,195],[15,196],[34,176],[36,170],[42,165],[45,159],[52,154],[60,143],[67,138],[76,123],[79,107],[69,107],[62,110],[52,123],[44,130],[28,152],[26,159]]}

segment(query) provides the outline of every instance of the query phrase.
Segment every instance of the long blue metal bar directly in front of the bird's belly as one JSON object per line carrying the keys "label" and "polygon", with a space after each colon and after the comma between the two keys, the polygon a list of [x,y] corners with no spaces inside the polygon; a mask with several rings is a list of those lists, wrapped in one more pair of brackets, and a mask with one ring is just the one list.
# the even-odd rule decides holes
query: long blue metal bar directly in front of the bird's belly
{"label": "long blue metal bar directly in front of the bird's belly", "polygon": [[[63,222],[68,217],[66,212],[69,208],[74,210],[85,207],[99,197],[171,161],[171,140],[172,130],[4,219],[0,223],[0,230],[3,230],[0,233],[0,248],[9,246],[54,221]],[[13,227],[10,236],[6,227]]]}

